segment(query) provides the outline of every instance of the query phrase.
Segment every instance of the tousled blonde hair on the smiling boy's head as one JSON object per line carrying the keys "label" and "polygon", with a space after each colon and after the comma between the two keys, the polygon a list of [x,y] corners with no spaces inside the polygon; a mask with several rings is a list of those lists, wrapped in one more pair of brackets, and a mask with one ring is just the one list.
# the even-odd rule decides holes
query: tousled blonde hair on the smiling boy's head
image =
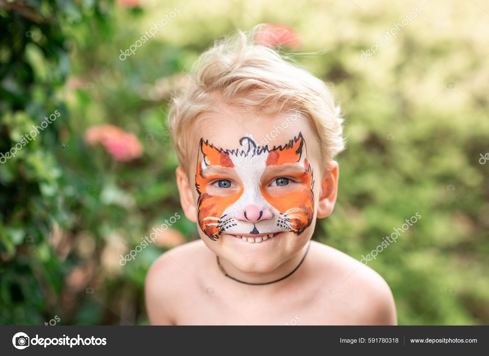
{"label": "tousled blonde hair on the smiling boy's head", "polygon": [[172,97],[167,125],[180,165],[190,162],[190,132],[201,113],[216,109],[215,94],[253,111],[299,111],[315,131],[322,163],[344,149],[343,118],[327,85],[276,50],[258,44],[263,29],[258,25],[214,42],[193,66],[186,87]]}

